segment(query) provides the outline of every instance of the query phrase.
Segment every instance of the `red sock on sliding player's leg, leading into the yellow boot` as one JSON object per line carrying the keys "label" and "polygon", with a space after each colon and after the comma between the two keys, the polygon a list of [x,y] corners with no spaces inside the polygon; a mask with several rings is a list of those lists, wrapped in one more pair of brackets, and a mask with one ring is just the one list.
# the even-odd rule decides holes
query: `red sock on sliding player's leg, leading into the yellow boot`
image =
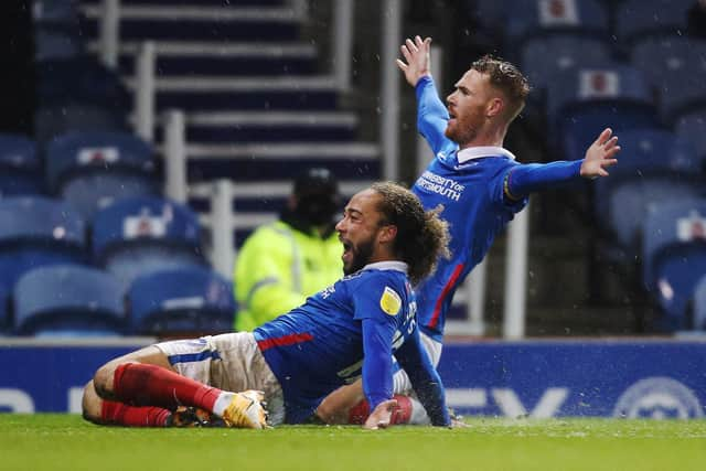
{"label": "red sock on sliding player's leg, leading into the yellow boot", "polygon": [[194,406],[213,411],[221,389],[161,366],[126,363],[115,370],[113,390],[121,403],[175,409]]}

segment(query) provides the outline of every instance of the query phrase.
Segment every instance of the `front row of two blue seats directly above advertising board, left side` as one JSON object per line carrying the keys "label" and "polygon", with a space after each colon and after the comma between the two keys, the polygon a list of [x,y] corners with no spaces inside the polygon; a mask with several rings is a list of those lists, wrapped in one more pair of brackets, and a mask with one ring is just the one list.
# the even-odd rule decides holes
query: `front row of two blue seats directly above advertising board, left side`
{"label": "front row of two blue seats directly above advertising board, left side", "polygon": [[53,265],[0,288],[0,335],[183,336],[233,329],[231,283],[206,267],[140,275],[124,292],[110,272]]}

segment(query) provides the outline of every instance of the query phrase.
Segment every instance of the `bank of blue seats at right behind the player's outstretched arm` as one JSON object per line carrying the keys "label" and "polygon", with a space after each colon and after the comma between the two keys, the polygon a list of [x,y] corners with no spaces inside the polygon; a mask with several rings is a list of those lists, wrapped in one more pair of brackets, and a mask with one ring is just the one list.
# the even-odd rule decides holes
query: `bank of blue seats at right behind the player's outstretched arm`
{"label": "bank of blue seats at right behind the player's outstretched arm", "polygon": [[[706,275],[697,229],[706,215],[706,32],[687,24],[696,8],[695,0],[467,2],[477,36],[490,35],[490,49],[500,44],[535,87],[524,115],[547,130],[555,158],[581,159],[605,127],[620,137],[619,164],[585,195],[602,255],[637,265],[624,274],[637,274],[656,302],[664,331],[706,328],[695,301]],[[663,237],[687,216],[696,221],[688,243]],[[689,256],[671,258],[676,246]]]}

